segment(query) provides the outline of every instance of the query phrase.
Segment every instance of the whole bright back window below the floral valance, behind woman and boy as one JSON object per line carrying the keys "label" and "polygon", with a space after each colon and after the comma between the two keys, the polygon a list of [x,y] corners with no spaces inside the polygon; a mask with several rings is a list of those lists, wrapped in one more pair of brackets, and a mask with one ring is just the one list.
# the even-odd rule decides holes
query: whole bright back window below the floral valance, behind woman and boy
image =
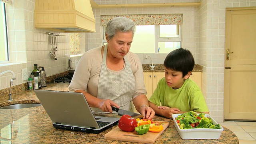
{"label": "whole bright back window below the floral valance, behind woman and boy", "polygon": [[[181,48],[180,27],[180,24],[136,26],[130,51],[136,54],[158,54]],[[105,29],[103,27],[103,44],[107,43]]]}

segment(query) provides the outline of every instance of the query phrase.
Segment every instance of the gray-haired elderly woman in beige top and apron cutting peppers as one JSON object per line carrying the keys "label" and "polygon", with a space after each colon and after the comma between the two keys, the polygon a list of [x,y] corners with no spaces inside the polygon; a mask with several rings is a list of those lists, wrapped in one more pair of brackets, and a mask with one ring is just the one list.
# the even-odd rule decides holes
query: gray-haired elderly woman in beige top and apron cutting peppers
{"label": "gray-haired elderly woman in beige top and apron cutting peppers", "polygon": [[133,102],[144,118],[154,118],[154,110],[148,107],[142,64],[129,52],[135,28],[129,18],[113,18],[106,26],[108,44],[88,50],[78,62],[69,90],[82,92],[94,112],[112,113],[111,106],[133,111]]}

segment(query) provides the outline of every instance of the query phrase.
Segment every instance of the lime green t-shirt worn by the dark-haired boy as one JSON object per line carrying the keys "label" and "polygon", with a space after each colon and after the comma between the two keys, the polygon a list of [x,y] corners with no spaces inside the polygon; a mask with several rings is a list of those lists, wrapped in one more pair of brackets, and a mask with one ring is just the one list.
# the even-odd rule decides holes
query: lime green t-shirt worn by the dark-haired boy
{"label": "lime green t-shirt worn by the dark-haired boy", "polygon": [[165,78],[162,78],[149,101],[157,106],[161,103],[162,106],[178,108],[186,112],[209,112],[200,88],[189,78],[176,90],[168,87]]}

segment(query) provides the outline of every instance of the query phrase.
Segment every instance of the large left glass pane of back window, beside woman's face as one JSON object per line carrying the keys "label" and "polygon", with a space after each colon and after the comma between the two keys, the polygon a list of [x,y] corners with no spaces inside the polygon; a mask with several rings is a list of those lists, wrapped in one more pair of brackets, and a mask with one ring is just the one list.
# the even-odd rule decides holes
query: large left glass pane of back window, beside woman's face
{"label": "large left glass pane of back window, beside woman's face", "polygon": [[155,26],[136,26],[130,51],[133,53],[155,53]]}

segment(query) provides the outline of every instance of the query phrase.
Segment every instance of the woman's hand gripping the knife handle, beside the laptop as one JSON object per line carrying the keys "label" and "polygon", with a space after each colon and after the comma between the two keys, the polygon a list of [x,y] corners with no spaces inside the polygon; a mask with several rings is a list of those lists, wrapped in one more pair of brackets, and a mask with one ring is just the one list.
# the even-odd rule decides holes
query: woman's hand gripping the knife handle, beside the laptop
{"label": "woman's hand gripping the knife handle, beside the laptop", "polygon": [[118,104],[113,102],[112,100],[99,100],[98,101],[98,108],[100,108],[103,112],[110,112],[112,113],[111,106],[119,108]]}

